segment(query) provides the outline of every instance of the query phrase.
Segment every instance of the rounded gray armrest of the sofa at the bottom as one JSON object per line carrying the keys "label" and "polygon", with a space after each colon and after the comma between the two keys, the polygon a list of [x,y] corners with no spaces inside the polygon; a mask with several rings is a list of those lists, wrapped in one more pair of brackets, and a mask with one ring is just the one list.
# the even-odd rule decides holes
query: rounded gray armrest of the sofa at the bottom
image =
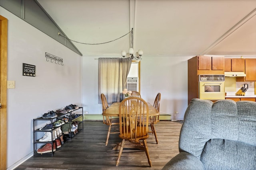
{"label": "rounded gray armrest of the sofa at the bottom", "polygon": [[162,170],[204,170],[204,165],[196,156],[188,152],[180,152]]}

